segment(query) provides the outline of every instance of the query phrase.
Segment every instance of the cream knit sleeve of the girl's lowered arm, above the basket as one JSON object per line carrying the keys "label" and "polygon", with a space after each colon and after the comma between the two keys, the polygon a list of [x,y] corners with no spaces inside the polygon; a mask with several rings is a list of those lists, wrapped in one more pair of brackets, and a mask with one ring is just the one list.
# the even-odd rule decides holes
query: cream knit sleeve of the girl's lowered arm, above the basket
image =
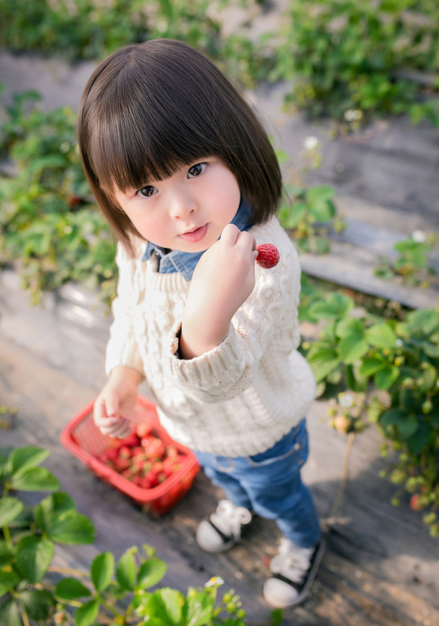
{"label": "cream knit sleeve of the girl's lowered arm, above the basket", "polygon": [[139,299],[136,284],[137,262],[123,246],[117,246],[116,263],[119,268],[117,297],[112,301],[113,321],[106,349],[106,373],[119,365],[131,367],[143,376],[143,362],[134,333],[134,308]]}

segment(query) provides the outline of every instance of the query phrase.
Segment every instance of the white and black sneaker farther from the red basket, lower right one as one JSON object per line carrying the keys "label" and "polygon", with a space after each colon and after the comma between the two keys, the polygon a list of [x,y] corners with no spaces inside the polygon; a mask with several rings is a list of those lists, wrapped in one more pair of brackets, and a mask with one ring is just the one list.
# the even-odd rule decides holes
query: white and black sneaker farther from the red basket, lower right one
{"label": "white and black sneaker farther from the red basket, lower right one", "polygon": [[270,563],[273,576],[263,586],[265,601],[281,609],[304,601],[316,576],[324,548],[324,540],[320,540],[313,548],[299,548],[283,537],[278,553]]}

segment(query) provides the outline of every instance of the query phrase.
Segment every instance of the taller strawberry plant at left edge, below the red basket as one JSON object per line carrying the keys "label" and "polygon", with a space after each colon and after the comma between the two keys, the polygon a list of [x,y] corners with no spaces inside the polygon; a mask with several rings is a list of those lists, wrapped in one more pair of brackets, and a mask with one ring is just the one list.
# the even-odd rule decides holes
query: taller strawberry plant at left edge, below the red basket
{"label": "taller strawberry plant at left edge, below the red basket", "polygon": [[[48,454],[33,446],[0,452],[0,623],[8,626],[27,626],[53,614],[56,596],[42,581],[56,544],[88,544],[95,537],[91,521],[40,467]],[[52,493],[27,507],[16,491]]]}

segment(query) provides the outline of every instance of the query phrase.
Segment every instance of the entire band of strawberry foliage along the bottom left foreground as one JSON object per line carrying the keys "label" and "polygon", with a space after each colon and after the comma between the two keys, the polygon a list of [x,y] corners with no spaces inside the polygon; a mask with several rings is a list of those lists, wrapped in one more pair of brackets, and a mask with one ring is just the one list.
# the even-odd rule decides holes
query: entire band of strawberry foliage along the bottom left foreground
{"label": "entire band of strawberry foliage along the bottom left foreground", "polygon": [[[132,546],[118,561],[100,553],[89,571],[58,568],[56,544],[89,544],[95,529],[40,467],[48,454],[34,446],[0,450],[0,624],[244,626],[235,591],[217,597],[220,577],[186,594],[158,587],[167,566],[151,546]],[[26,491],[51,494],[29,506],[18,495]]]}

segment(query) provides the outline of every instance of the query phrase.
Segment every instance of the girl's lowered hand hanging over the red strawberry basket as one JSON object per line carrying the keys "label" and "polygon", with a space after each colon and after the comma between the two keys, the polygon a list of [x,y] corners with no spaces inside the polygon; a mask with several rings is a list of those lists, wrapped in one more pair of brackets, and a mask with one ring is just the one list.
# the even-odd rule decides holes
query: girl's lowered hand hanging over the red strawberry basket
{"label": "girl's lowered hand hanging over the red strawberry basket", "polygon": [[97,396],[93,419],[102,434],[123,439],[132,430],[141,374],[130,367],[115,367]]}

